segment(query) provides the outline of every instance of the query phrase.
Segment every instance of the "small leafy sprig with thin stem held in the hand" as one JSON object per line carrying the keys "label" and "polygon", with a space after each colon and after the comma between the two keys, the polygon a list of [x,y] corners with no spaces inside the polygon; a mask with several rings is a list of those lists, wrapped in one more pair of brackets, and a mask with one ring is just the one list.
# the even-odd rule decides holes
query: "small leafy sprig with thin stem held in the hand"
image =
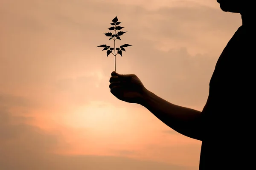
{"label": "small leafy sprig with thin stem held in the hand", "polygon": [[[107,37],[111,37],[109,38],[109,40],[113,39],[114,40],[114,48],[111,48],[110,46],[107,46],[106,44],[103,44],[103,45],[99,45],[97,47],[104,47],[103,50],[108,50],[107,51],[107,57],[109,54],[113,54],[113,50],[114,50],[114,56],[115,56],[115,71],[116,71],[116,55],[117,54],[120,54],[121,57],[122,57],[122,51],[125,51],[125,47],[128,47],[128,46],[132,46],[132,45],[129,45],[129,44],[124,44],[124,45],[121,45],[120,48],[116,48],[116,39],[118,40],[121,40],[120,36],[122,34],[125,34],[127,31],[123,32],[123,31],[118,31],[117,34],[116,34],[116,30],[121,30],[122,28],[125,28],[125,27],[121,27],[121,26],[118,26],[120,23],[122,22],[118,22],[118,19],[117,17],[115,17],[113,20],[112,20],[113,23],[111,23],[112,27],[108,28],[109,30],[114,30],[115,33],[112,34],[111,32],[108,32],[108,33],[105,33],[105,35]],[[102,51],[103,51],[102,50]],[[116,53],[117,51],[117,53]]]}

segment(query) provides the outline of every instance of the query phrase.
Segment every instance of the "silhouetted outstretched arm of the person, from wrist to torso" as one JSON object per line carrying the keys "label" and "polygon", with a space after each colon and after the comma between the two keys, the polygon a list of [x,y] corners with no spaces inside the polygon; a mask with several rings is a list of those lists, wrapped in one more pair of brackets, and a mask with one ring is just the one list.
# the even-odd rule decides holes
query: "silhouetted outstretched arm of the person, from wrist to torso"
{"label": "silhouetted outstretched arm of the person, from wrist to torso", "polygon": [[174,105],[148,90],[143,93],[141,105],[178,133],[202,140],[201,111]]}

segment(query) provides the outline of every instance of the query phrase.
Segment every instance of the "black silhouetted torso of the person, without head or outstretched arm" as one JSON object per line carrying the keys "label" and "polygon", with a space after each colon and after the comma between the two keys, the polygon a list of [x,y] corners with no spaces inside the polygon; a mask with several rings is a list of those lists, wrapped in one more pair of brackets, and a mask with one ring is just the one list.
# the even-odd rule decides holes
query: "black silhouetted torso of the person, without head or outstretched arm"
{"label": "black silhouetted torso of the person, without head or outstretched arm", "polygon": [[254,28],[239,27],[216,63],[202,111],[199,170],[255,166],[250,161],[254,158],[255,41]]}

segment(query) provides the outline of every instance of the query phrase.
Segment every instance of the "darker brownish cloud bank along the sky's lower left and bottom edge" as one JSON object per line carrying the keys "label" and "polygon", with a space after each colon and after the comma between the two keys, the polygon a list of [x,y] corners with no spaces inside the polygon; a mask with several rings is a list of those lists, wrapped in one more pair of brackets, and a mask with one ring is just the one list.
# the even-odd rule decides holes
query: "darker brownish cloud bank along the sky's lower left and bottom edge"
{"label": "darker brownish cloud bank along the sky's lower left and bottom edge", "polygon": [[[21,97],[1,96],[9,99],[12,106],[20,101]],[[10,100],[12,98],[12,100]],[[142,161],[122,156],[64,156],[56,155],[55,150],[68,149],[61,134],[42,130],[26,123],[26,116],[13,116],[9,112],[12,106],[0,108],[0,168],[3,170],[193,170],[195,167],[177,166]],[[31,118],[28,118],[31,119]],[[128,150],[120,150],[122,155],[133,154]]]}

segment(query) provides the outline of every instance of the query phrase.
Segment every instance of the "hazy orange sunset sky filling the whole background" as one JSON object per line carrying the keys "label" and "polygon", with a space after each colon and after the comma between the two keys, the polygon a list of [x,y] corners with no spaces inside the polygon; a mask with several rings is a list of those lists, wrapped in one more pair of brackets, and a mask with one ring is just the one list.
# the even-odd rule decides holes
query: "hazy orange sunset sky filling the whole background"
{"label": "hazy orange sunset sky filling the whole background", "polygon": [[[202,111],[241,15],[215,0],[0,0],[0,170],[198,170],[201,142],[110,93],[116,72]],[[113,31],[112,31],[113,32]]]}

